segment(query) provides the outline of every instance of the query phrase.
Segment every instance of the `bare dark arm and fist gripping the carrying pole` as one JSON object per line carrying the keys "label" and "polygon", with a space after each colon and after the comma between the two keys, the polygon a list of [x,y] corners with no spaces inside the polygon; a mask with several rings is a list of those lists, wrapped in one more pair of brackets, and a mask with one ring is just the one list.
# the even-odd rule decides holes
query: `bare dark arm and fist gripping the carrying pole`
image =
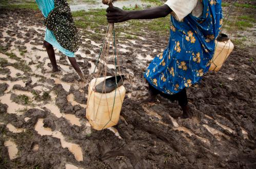
{"label": "bare dark arm and fist gripping the carrying pole", "polygon": [[107,19],[110,23],[123,22],[130,19],[155,19],[166,17],[171,13],[170,7],[163,5],[156,8],[150,8],[138,11],[124,11],[120,8],[107,8]]}

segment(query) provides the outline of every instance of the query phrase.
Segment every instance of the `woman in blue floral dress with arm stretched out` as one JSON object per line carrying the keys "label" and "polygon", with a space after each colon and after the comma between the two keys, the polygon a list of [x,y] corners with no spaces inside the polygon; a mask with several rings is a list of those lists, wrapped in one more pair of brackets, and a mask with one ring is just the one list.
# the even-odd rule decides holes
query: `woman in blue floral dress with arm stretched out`
{"label": "woman in blue floral dress with arm stretched out", "polygon": [[108,8],[108,22],[153,19],[171,13],[169,44],[149,64],[144,77],[151,96],[178,100],[183,118],[190,116],[186,88],[198,83],[209,70],[215,38],[222,24],[221,0],[168,0],[161,7],[124,11]]}

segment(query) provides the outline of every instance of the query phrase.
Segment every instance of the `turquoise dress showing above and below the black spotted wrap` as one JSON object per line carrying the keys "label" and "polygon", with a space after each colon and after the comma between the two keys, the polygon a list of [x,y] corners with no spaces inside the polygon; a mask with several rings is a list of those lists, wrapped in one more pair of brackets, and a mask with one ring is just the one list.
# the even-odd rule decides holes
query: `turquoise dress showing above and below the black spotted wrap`
{"label": "turquoise dress showing above and below the black spotted wrap", "polygon": [[[38,8],[42,11],[44,17],[47,17],[48,14],[53,10],[54,8],[54,0],[36,0],[35,1],[38,5]],[[59,51],[61,51],[63,54],[67,55],[68,57],[75,57],[73,52],[70,52],[66,49],[64,49],[60,43],[57,42],[55,36],[53,33],[46,28],[45,32],[45,41],[56,47]]]}

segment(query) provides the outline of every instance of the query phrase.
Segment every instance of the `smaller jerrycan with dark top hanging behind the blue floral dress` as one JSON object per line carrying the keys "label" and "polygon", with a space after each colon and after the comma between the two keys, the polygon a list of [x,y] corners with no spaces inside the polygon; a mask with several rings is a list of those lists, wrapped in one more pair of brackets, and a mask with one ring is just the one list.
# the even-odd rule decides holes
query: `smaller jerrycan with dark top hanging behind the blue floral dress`
{"label": "smaller jerrycan with dark top hanging behind the blue floral dress", "polygon": [[230,53],[234,49],[234,44],[225,34],[220,34],[216,38],[215,52],[209,70],[219,71],[223,63],[226,61]]}

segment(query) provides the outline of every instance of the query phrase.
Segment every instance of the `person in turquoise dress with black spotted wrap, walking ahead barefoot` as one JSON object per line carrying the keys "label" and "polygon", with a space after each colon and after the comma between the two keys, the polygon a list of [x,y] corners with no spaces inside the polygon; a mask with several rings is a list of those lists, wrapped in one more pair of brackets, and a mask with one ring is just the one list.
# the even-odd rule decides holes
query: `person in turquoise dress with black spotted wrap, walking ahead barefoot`
{"label": "person in turquoise dress with black spotted wrap, walking ahead barefoot", "polygon": [[[69,17],[72,17],[71,15],[71,12],[70,12],[70,8],[65,1],[54,1],[54,0],[36,0],[36,3],[38,5],[38,8],[41,10],[42,14],[44,15],[45,19],[48,18],[48,16],[50,15],[50,13],[52,12],[57,12],[59,11],[59,9],[61,8],[65,8],[65,10],[67,11],[67,15]],[[59,3],[59,4],[58,4]],[[64,4],[64,5],[63,5]],[[53,11],[55,9],[55,6],[57,5],[58,9],[56,9],[56,11]],[[56,13],[54,13],[53,15],[56,15]],[[63,14],[62,14],[63,15]],[[65,14],[64,14],[65,15]],[[55,21],[54,17],[51,17],[50,21]],[[49,20],[49,19],[48,19]],[[46,22],[48,21],[46,19]],[[70,21],[69,21],[70,20]],[[72,18],[67,20],[66,22],[67,23],[62,23],[61,25],[73,25],[73,20]],[[51,26],[53,25],[52,27],[55,27],[57,28],[58,30],[60,31],[67,31],[67,32],[72,32],[72,30],[69,30],[67,27],[65,28],[65,26],[60,26],[60,27],[56,27],[54,25],[53,22],[50,22],[48,21],[48,25],[47,26]],[[69,23],[70,22],[70,23]],[[54,29],[53,29],[54,30]],[[44,45],[46,47],[46,50],[47,50],[47,53],[48,53],[48,56],[49,56],[49,59],[51,61],[51,64],[52,64],[52,71],[55,72],[55,71],[60,71],[60,69],[58,69],[57,67],[57,63],[56,63],[56,58],[55,58],[55,53],[54,53],[54,49],[53,47],[55,47],[56,49],[58,49],[59,51],[61,51],[63,54],[65,54],[66,56],[68,56],[68,59],[71,63],[71,65],[74,67],[75,71],[77,72],[77,74],[80,76],[81,80],[82,81],[85,81],[85,78],[83,76],[83,73],[80,69],[80,67],[78,66],[77,62],[76,62],[76,59],[75,59],[75,55],[74,55],[74,51],[76,51],[78,48],[78,45],[76,45],[76,49],[74,51],[70,51],[68,49],[65,49],[63,46],[65,45],[65,42],[62,41],[62,39],[68,39],[68,38],[63,38],[61,36],[58,36],[60,35],[59,32],[57,31],[51,31],[48,29],[48,27],[46,28],[46,32],[45,32],[45,39],[44,39]],[[71,34],[71,36],[73,36],[74,34]],[[56,39],[56,36],[58,37]],[[70,35],[69,35],[70,36]],[[70,38],[69,38],[70,39]],[[73,37],[71,37],[71,39],[74,39]],[[79,41],[79,40],[76,40],[76,41]],[[60,42],[64,45],[61,45]],[[74,43],[72,41],[69,40],[68,43]],[[78,42],[77,42],[78,43]],[[71,44],[72,45],[72,44]],[[70,49],[73,49],[72,47],[70,47]]]}

